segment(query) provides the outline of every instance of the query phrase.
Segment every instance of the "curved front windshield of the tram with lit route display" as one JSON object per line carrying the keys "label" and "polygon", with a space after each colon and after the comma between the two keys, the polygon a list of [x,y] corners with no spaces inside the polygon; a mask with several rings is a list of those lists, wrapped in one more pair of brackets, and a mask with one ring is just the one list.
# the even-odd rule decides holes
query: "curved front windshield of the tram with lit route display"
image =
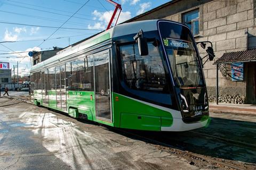
{"label": "curved front windshield of the tram with lit route display", "polygon": [[188,28],[171,22],[159,22],[175,86],[180,88],[202,86],[203,74],[199,58]]}

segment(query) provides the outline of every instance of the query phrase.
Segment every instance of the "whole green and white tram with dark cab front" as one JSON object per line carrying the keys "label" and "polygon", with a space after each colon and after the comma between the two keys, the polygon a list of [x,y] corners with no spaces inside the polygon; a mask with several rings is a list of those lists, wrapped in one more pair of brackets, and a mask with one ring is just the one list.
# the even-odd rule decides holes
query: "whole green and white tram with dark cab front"
{"label": "whole green and white tram with dark cab front", "polygon": [[117,25],[36,64],[30,79],[36,105],[109,126],[187,131],[209,121],[202,60],[178,22]]}

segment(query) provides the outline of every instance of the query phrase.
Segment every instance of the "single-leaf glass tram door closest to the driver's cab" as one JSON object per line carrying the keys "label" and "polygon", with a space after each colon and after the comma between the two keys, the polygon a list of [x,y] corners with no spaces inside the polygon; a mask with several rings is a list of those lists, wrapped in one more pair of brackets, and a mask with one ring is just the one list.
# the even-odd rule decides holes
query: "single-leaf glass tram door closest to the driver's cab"
{"label": "single-leaf glass tram door closest to the driver's cab", "polygon": [[109,72],[109,51],[94,55],[96,117],[111,122]]}

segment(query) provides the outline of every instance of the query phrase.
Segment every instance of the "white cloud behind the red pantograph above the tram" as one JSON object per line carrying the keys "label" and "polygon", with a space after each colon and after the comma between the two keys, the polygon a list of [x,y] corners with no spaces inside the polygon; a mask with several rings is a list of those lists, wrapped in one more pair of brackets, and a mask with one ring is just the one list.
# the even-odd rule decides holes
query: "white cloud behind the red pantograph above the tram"
{"label": "white cloud behind the red pantograph above the tram", "polygon": [[[94,20],[98,19],[101,22],[96,22],[94,25],[88,25],[88,29],[106,29],[113,12],[114,11],[107,11],[107,12],[99,12],[97,10],[93,11],[92,14],[95,16],[93,19]],[[131,12],[129,11],[121,12],[117,23],[124,22],[126,20],[129,20],[130,18],[132,18]],[[115,22],[116,20],[113,21],[112,25],[115,25]]]}

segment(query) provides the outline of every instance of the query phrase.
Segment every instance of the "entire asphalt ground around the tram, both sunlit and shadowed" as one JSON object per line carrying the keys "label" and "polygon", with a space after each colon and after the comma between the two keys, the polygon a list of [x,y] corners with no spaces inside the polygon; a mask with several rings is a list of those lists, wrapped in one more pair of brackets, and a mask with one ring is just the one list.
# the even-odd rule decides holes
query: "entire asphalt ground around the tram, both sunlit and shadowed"
{"label": "entire asphalt ground around the tram, both sunlit and shadowed", "polygon": [[[0,98],[0,110],[0,169],[229,169],[19,100]],[[256,169],[256,115],[211,112],[210,116],[207,128],[188,132],[125,131]]]}

